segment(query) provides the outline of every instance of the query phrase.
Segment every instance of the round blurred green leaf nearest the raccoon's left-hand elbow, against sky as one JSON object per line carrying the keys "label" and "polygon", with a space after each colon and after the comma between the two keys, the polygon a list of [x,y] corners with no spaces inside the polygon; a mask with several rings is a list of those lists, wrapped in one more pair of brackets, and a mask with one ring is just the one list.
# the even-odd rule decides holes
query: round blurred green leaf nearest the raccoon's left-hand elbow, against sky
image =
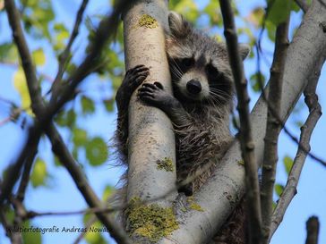
{"label": "round blurred green leaf nearest the raccoon's left-hand elbow, against sky", "polygon": [[107,161],[107,144],[103,139],[95,137],[86,144],[86,157],[90,164],[98,166]]}

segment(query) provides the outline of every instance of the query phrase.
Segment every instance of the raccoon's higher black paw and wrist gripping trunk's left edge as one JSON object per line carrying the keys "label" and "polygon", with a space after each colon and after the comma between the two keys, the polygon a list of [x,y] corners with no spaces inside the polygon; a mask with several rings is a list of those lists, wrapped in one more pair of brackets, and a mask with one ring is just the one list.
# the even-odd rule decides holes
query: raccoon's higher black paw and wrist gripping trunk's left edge
{"label": "raccoon's higher black paw and wrist gripping trunk's left edge", "polygon": [[116,92],[116,105],[118,111],[126,110],[133,91],[138,88],[150,74],[150,69],[145,65],[137,65],[128,70],[124,75],[124,80]]}

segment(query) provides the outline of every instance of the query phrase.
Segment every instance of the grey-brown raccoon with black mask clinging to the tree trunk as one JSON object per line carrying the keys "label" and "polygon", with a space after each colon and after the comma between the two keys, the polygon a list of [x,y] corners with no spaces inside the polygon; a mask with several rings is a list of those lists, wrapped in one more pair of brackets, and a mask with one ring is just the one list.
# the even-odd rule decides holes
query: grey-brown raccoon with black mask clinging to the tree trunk
{"label": "grey-brown raccoon with black mask clinging to the tree trunk", "polygon": [[[159,82],[142,84],[150,73],[144,65],[126,72],[116,93],[117,139],[125,159],[128,105],[133,91],[138,88],[139,99],[162,110],[173,123],[177,179],[184,181],[211,164],[213,157],[219,159],[225,153],[232,140],[229,116],[235,93],[227,46],[194,29],[180,14],[169,13],[168,25],[166,51],[173,96]],[[247,46],[240,46],[243,59],[248,53]],[[192,195],[210,177],[210,172],[201,172],[180,190],[186,196]]]}

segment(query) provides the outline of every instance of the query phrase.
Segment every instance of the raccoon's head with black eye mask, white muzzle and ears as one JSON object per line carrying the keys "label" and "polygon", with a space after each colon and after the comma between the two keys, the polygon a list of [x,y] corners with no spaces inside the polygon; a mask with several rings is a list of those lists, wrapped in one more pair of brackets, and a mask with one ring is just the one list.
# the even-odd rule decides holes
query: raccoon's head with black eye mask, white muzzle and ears
{"label": "raccoon's head with black eye mask, white muzzle and ears", "polygon": [[[232,100],[227,46],[193,29],[180,14],[171,12],[168,22],[167,57],[177,97],[216,105]],[[240,46],[240,52],[244,58],[249,49]]]}

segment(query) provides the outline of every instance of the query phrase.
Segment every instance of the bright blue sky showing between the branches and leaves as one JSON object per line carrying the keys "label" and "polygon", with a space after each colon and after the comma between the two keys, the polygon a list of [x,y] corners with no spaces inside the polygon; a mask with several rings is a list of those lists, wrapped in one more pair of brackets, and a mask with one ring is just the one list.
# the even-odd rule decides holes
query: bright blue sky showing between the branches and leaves
{"label": "bright blue sky showing between the branches and leaves", "polygon": [[[205,2],[205,1],[203,1]],[[201,4],[203,4],[203,2]],[[249,3],[248,3],[249,2]],[[236,2],[240,6],[240,1]],[[248,14],[248,11],[253,8],[253,6],[259,5],[260,1],[242,1],[240,12],[244,15]],[[58,0],[53,1],[56,8],[57,19],[64,20],[68,27],[73,25],[74,13],[76,13],[80,1],[64,1]],[[103,13],[103,9],[106,9],[107,1],[90,1],[88,6],[88,13]],[[73,14],[72,14],[73,13]],[[299,14],[293,16],[292,27],[297,26],[299,22]],[[241,23],[239,23],[241,25]],[[219,29],[219,33],[221,33]],[[11,33],[10,29],[7,27],[7,21],[5,14],[0,15],[0,42],[4,40],[10,40]],[[82,33],[81,33],[82,35]],[[291,33],[292,35],[292,33]],[[266,39],[266,38],[265,38]],[[31,49],[37,48],[39,42],[35,42],[29,39],[29,44]],[[244,40],[245,41],[245,38]],[[81,45],[77,48],[79,55],[77,57],[82,58],[82,46],[84,45],[82,39],[77,39],[77,43]],[[42,46],[46,46],[42,44]],[[270,49],[272,51],[272,46],[269,41],[263,41],[263,46],[265,49]],[[48,53],[48,52],[47,52]],[[47,60],[54,60],[54,57],[49,56]],[[271,62],[271,58],[270,58]],[[263,72],[268,74],[268,66],[262,63]],[[56,64],[47,62],[44,67],[41,68],[41,72],[46,72],[49,76],[53,77],[56,74]],[[255,71],[255,61],[248,60],[245,63],[245,72],[247,77]],[[13,72],[15,68],[0,63],[0,74],[1,74],[1,85],[0,85],[0,97],[11,99],[17,103],[20,102],[20,97],[16,90],[13,88]],[[325,96],[322,91],[326,90],[325,85],[326,79],[326,69],[322,71],[321,80],[318,87],[318,94],[320,96],[320,102],[322,107],[326,106]],[[92,77],[86,79],[82,84],[82,88],[90,88],[90,80]],[[99,82],[100,80],[95,80],[91,82]],[[49,85],[48,85],[49,86]],[[90,92],[96,92],[96,90],[90,90]],[[110,96],[110,90],[107,88],[107,97]],[[255,100],[258,98],[257,94],[251,92],[251,107],[253,107]],[[299,104],[303,104],[302,99]],[[8,116],[8,106],[5,105],[0,100],[0,121]],[[287,127],[296,135],[299,135],[299,129],[295,125],[296,121],[304,121],[307,115],[307,109],[304,108],[299,114],[293,114],[289,121],[287,122]],[[83,128],[89,131],[92,136],[100,135],[107,139],[113,134],[115,130],[115,120],[116,114],[107,114],[104,108],[99,105],[97,108],[97,113],[92,114],[79,121]],[[326,119],[322,116],[321,120],[318,122],[314,133],[313,139],[311,141],[311,146],[313,153],[318,156],[326,158],[326,153],[324,151],[324,139],[326,136],[326,130],[324,126],[326,124]],[[22,141],[25,138],[25,130],[21,130],[19,126],[13,124],[12,122],[5,123],[0,127],[0,172],[4,168],[13,162],[15,156],[17,156],[20,151]],[[64,139],[69,139],[66,131],[61,130]],[[86,207],[86,204],[80,195],[79,191],[75,188],[74,183],[70,175],[64,170],[64,168],[57,168],[51,163],[51,147],[47,139],[42,139],[43,143],[39,147],[39,154],[46,159],[49,163],[47,164],[48,171],[53,176],[53,180],[49,181],[49,187],[40,187],[38,189],[28,189],[26,206],[29,209],[43,211],[69,211],[82,209]],[[279,159],[281,160],[284,156],[294,157],[296,154],[296,145],[291,139],[288,139],[287,135],[281,133],[279,140]],[[104,164],[97,168],[86,168],[87,177],[90,181],[90,185],[95,189],[97,194],[101,196],[101,193],[105,189],[106,185],[116,185],[119,179],[119,175],[123,172],[122,169],[112,168],[108,164]],[[323,228],[326,223],[326,211],[324,206],[326,206],[326,184],[323,183],[325,178],[326,169],[320,164],[316,163],[312,159],[308,158],[305,162],[305,168],[302,173],[298,188],[297,195],[292,201],[291,205],[287,209],[287,214],[284,217],[283,223],[281,223],[279,230],[274,234],[271,241],[272,244],[282,244],[282,243],[305,243],[305,221],[311,215],[317,215],[321,221],[321,231],[320,231],[320,243],[326,243],[326,231]],[[277,182],[286,183],[287,174],[284,170],[283,164],[278,166]],[[32,221],[34,226],[39,227],[52,227],[56,225],[57,227],[75,226],[82,227],[82,217],[79,215],[73,216],[51,216],[51,217],[40,217]],[[43,242],[45,244],[51,243],[73,243],[76,239],[77,234],[45,234],[43,235]],[[0,243],[7,244],[9,241],[4,237],[4,230],[0,228]],[[83,243],[83,242],[82,242]]]}

